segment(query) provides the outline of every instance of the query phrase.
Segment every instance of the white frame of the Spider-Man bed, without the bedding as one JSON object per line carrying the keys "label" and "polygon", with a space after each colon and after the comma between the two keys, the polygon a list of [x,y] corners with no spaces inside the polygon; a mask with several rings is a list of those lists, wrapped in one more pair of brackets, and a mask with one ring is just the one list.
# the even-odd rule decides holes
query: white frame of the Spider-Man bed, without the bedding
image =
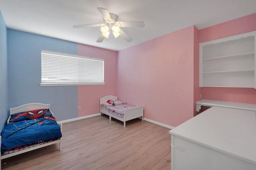
{"label": "white frame of the Spider-Man bed, without the bedding", "polygon": [[[24,112],[24,111],[29,111],[29,110],[35,110],[35,109],[49,109],[50,110],[50,104],[42,104],[42,103],[24,104],[24,105],[21,105],[21,106],[18,106],[18,107],[10,108],[10,115],[13,115],[15,113]],[[52,113],[52,111],[50,111],[50,112]],[[53,115],[53,113],[52,113],[52,115]],[[60,124],[60,131],[62,132],[62,124]],[[1,146],[1,142],[2,142],[2,138],[0,136],[0,146]],[[15,155],[18,155],[18,154],[22,154],[24,152],[29,152],[31,150],[46,147],[46,146],[49,146],[49,145],[53,145],[55,143],[59,143],[59,146],[60,146],[59,149],[61,150],[62,139],[60,138],[58,140],[55,140],[55,141],[52,141],[52,142],[49,142],[49,143],[45,143],[45,144],[42,144],[42,145],[39,145],[39,146],[36,146],[36,147],[20,150],[20,151],[17,151],[17,152],[6,154],[6,155],[1,154],[0,155],[0,163],[2,162],[2,159],[9,158],[11,156],[15,156]],[[1,170],[1,164],[0,164],[0,170]]]}

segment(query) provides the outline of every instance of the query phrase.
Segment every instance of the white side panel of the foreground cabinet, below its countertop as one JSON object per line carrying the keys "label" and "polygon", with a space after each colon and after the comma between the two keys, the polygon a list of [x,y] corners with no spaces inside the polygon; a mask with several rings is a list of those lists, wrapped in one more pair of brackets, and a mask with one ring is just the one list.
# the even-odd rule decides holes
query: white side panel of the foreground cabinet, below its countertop
{"label": "white side panel of the foreground cabinet, below its countertop", "polygon": [[[172,170],[255,170],[256,164],[172,135]],[[184,151],[182,151],[184,149]]]}

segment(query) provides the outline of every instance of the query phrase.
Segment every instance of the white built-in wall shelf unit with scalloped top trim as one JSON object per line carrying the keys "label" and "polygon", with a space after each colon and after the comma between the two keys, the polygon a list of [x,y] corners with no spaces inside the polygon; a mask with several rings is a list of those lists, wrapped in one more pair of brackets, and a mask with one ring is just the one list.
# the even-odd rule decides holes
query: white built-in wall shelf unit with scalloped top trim
{"label": "white built-in wall shelf unit with scalloped top trim", "polygon": [[200,87],[255,88],[256,31],[200,43]]}

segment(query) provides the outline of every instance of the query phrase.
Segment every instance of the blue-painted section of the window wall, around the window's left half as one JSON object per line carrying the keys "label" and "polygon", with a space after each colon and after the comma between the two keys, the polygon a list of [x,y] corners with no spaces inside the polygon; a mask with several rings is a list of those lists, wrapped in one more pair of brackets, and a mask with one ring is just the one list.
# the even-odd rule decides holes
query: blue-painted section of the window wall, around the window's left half
{"label": "blue-painted section of the window wall, around the window's left half", "polygon": [[77,86],[40,86],[41,50],[77,55],[77,43],[7,29],[8,108],[51,104],[57,121],[78,117]]}

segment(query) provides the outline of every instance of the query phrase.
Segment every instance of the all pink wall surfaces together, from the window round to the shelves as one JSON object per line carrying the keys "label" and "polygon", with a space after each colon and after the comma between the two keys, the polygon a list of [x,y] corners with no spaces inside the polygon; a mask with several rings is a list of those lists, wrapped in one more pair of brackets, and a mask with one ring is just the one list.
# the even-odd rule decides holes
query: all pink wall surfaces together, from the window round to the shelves
{"label": "all pink wall surfaces together, from the window round to the shelves", "polygon": [[198,45],[255,30],[256,13],[201,30],[190,26],[119,52],[78,44],[78,55],[105,60],[106,82],[78,86],[78,117],[99,113],[99,98],[110,94],[173,127],[195,115],[200,93],[203,99],[256,104],[253,88],[199,88]]}

